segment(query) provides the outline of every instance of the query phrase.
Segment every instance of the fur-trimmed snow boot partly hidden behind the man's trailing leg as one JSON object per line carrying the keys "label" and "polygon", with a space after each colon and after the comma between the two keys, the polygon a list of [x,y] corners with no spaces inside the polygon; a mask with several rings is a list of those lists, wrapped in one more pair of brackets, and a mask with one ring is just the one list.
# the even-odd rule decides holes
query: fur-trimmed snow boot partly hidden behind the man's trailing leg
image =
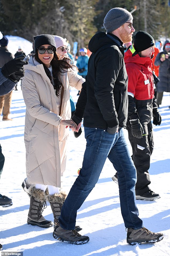
{"label": "fur-trimmed snow boot partly hidden behind the man's trailing leg", "polygon": [[[65,194],[65,192],[62,192],[62,191],[59,194],[55,193],[53,195],[49,195],[48,197],[48,201],[51,205],[51,210],[54,215],[54,229],[58,223],[58,218],[61,215],[61,209],[66,197],[67,195]],[[82,230],[82,228],[80,226],[76,226],[75,230],[79,232],[80,230]]]}

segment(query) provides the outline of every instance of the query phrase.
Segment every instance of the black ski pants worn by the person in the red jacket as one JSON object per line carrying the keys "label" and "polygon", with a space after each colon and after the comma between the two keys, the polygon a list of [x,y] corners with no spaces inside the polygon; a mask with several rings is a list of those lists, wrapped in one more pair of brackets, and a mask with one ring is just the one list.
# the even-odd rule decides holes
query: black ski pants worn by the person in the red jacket
{"label": "black ski pants worn by the person in the red jacket", "polygon": [[153,152],[153,130],[152,124],[143,125],[144,134],[141,139],[137,139],[132,135],[131,125],[127,122],[127,130],[130,144],[132,146],[132,160],[136,167],[137,182],[135,186],[136,195],[142,195],[146,191],[149,191],[150,177],[150,156]]}

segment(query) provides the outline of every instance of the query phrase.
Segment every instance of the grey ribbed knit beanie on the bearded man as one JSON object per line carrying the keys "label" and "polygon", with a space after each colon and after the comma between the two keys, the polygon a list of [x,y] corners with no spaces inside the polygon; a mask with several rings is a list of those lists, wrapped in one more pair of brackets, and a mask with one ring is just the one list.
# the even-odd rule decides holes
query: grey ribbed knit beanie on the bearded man
{"label": "grey ribbed knit beanie on the bearded man", "polygon": [[111,9],[104,18],[103,26],[107,32],[112,32],[118,27],[122,26],[124,23],[133,20],[133,16],[130,12],[123,8],[113,8]]}

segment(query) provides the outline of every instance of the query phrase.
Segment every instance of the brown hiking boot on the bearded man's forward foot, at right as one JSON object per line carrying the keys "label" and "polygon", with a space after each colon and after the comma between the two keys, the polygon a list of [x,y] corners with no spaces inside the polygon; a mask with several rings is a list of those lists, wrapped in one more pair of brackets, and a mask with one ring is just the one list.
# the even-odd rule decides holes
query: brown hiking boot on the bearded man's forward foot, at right
{"label": "brown hiking boot on the bearded man's forward foot, at right", "polygon": [[127,229],[127,243],[130,245],[135,245],[136,243],[156,243],[164,238],[162,233],[153,233],[142,227],[141,229]]}

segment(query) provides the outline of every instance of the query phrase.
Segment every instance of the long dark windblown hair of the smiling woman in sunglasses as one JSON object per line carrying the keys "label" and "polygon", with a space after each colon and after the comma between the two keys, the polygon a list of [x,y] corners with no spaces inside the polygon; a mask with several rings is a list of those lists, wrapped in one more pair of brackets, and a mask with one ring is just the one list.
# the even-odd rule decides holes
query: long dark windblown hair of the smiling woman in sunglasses
{"label": "long dark windblown hair of the smiling woman in sunglasses", "polygon": [[57,53],[54,52],[54,57],[53,57],[53,59],[51,60],[51,63],[50,63],[50,65],[52,66],[52,70],[53,70],[52,71],[53,76],[51,76],[51,73],[50,73],[49,69],[39,59],[38,50],[36,50],[34,57],[35,57],[36,61],[38,61],[40,64],[43,65],[44,70],[46,72],[46,75],[48,76],[48,78],[50,79],[50,82],[54,86],[54,89],[56,90],[56,96],[58,97],[59,92],[60,92],[60,88],[62,86],[62,83],[58,79],[59,73],[64,73],[66,71],[66,69],[68,69],[68,68],[71,68],[73,70],[73,68],[75,66],[71,65],[71,60],[67,57],[64,57],[63,59],[59,60],[58,56],[57,56]]}

